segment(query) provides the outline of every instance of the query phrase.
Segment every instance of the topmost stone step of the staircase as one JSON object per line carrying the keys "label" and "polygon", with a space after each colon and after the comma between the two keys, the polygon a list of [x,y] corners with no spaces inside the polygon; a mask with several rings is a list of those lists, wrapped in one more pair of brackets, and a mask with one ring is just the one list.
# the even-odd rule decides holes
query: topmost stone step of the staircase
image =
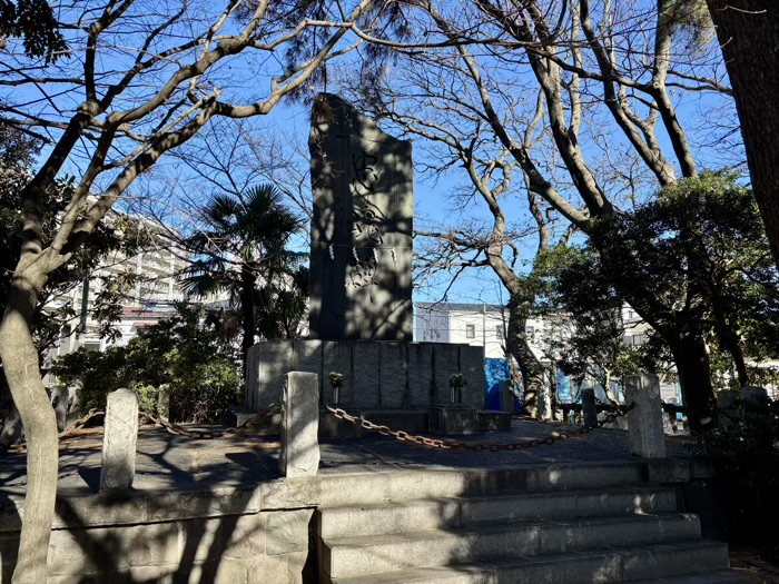
{"label": "topmost stone step of the staircase", "polygon": [[492,468],[393,469],[321,476],[321,505],[445,498],[550,489],[611,488],[644,482],[645,465],[602,462]]}

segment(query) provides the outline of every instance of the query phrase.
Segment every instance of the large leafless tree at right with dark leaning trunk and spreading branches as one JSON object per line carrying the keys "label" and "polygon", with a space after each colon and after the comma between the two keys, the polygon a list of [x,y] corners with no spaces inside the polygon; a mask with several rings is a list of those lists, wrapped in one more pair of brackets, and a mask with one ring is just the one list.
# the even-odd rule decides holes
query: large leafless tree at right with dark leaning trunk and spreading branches
{"label": "large leafless tree at right with dark leaning trunk and spreading branches", "polygon": [[[693,426],[701,429],[713,389],[700,290],[690,286],[682,297],[669,298],[648,286],[611,227],[635,197],[697,176],[681,98],[706,92],[711,102],[728,105],[721,61],[716,51],[707,52],[716,47],[693,42],[678,6],[416,2],[407,12],[413,39],[393,46],[363,38],[394,49],[372,73],[368,100],[397,109],[406,79],[393,76],[426,72],[432,91],[423,98],[425,107],[410,96],[414,106],[406,103],[407,110],[428,120],[446,111],[457,118],[457,128],[479,126],[483,140],[489,130],[516,162],[529,191],[589,236],[610,270],[622,273],[615,284],[670,346]],[[524,132],[533,117],[516,109],[524,96],[538,92],[550,139],[529,147]]]}

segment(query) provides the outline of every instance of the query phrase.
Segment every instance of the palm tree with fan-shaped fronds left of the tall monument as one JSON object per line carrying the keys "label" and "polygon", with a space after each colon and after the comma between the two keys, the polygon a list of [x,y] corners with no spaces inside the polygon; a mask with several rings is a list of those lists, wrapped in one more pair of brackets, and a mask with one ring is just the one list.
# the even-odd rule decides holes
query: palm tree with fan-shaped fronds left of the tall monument
{"label": "palm tree with fan-shaped fronds left of the tall monument", "polygon": [[[240,313],[244,363],[258,333],[260,309],[265,338],[284,336],[273,331],[290,330],[288,321],[282,327],[272,324],[270,316],[290,316],[293,305],[287,297],[297,296],[299,300],[299,290],[292,288],[295,278],[302,278],[298,273],[307,273],[300,264],[305,255],[287,249],[303,221],[284,207],[282,197],[267,184],[236,195],[214,195],[200,211],[201,230],[186,241],[196,259],[181,273],[184,288],[200,297],[229,294],[230,305]],[[287,304],[275,309],[272,304],[277,299]],[[298,311],[298,319],[302,315]]]}

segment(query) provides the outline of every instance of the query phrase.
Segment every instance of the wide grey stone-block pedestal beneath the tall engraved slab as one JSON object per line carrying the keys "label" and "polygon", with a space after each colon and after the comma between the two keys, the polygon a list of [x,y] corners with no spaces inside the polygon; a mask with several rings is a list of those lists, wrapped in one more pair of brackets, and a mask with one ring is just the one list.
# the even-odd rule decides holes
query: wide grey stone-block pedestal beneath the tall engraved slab
{"label": "wide grey stone-block pedestal beneath the tall engraved slab", "polygon": [[247,355],[246,405],[255,412],[278,404],[285,375],[319,376],[319,394],[333,402],[331,372],[344,376],[339,406],[358,410],[427,410],[450,402],[448,378],[467,385],[463,405],[484,406],[484,349],[445,343],[378,340],[268,340]]}

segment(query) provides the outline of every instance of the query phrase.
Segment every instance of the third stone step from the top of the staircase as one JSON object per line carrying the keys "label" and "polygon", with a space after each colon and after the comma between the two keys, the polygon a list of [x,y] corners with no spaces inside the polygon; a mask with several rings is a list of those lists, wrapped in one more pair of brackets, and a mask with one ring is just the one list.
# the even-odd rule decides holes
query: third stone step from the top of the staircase
{"label": "third stone step from the top of the staircase", "polygon": [[503,523],[324,540],[322,562],[324,571],[338,578],[698,537],[698,516],[683,513]]}

